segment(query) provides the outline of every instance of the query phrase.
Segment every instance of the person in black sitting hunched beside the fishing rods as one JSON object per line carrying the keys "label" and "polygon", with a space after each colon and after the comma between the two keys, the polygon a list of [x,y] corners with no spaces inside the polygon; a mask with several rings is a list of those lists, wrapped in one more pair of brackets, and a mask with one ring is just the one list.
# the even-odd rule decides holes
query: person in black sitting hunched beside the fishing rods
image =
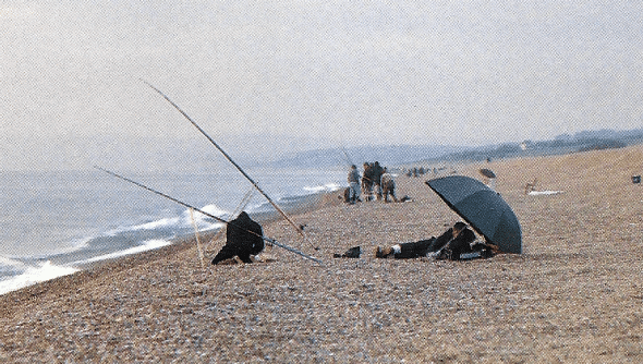
{"label": "person in black sitting hunched beside the fishing rods", "polygon": [[236,219],[228,223],[226,230],[226,245],[213,259],[213,264],[219,264],[238,256],[243,263],[253,263],[251,255],[257,255],[264,250],[264,231],[262,226],[253,221],[242,211]]}

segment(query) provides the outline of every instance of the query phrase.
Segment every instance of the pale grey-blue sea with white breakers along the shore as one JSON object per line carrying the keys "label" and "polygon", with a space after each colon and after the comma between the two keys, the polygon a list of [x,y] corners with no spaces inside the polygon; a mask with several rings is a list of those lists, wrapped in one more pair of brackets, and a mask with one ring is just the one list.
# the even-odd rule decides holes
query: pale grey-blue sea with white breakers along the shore
{"label": "pale grey-blue sea with white breakers along the shore", "polygon": [[[341,167],[245,172],[284,210],[348,185]],[[241,209],[275,213],[236,170],[119,174],[223,220]],[[201,232],[223,225],[100,170],[0,172],[0,294],[172,244],[195,226]]]}

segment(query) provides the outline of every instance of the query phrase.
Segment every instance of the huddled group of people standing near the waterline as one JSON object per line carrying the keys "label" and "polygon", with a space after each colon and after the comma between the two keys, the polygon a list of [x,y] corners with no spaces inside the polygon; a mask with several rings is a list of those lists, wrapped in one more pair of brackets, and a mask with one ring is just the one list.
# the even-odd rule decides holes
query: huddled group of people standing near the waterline
{"label": "huddled group of people standing near the waterline", "polygon": [[396,181],[386,167],[381,167],[378,161],[364,162],[364,173],[360,175],[357,166],[352,165],[349,170],[345,201],[354,204],[363,194],[365,201],[384,199],[389,202],[389,196],[393,202],[398,202],[396,196]]}

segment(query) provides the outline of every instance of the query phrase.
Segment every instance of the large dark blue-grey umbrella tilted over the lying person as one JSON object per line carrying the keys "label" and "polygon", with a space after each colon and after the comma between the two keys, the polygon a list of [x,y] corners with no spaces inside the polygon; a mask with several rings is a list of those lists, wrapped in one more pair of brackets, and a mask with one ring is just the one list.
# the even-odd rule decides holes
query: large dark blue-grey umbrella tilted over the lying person
{"label": "large dark blue-grey umbrella tilted over the lying person", "polygon": [[487,242],[507,253],[522,253],[522,232],[511,207],[484,183],[449,175],[426,184]]}

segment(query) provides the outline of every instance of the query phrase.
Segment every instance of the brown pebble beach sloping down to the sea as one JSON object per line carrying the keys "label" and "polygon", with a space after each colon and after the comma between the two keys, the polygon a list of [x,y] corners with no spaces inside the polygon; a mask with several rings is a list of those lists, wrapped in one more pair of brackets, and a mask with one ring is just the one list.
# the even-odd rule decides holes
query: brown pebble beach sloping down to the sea
{"label": "brown pebble beach sloping down to the sea", "polygon": [[[409,202],[347,205],[337,192],[298,211],[306,240],[263,223],[322,264],[268,247],[266,262],[211,266],[225,239],[209,233],[3,294],[0,361],[643,362],[643,146],[449,168],[496,173],[523,254],[375,258],[460,220],[430,174],[399,175]],[[534,181],[543,193],[525,194]],[[360,258],[332,257],[353,246]]]}

